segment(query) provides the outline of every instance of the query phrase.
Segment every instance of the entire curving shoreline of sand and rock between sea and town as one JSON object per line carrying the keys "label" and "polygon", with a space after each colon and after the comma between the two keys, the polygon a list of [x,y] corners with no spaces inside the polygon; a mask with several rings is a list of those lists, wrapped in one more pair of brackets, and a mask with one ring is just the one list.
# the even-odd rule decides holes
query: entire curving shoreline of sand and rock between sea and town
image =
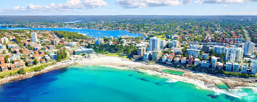
{"label": "entire curving shoreline of sand and rock between sea and town", "polygon": [[[32,72],[21,76],[15,77],[8,77],[0,79],[0,84],[9,83],[12,81],[22,80],[26,78],[31,78],[36,75],[40,75],[43,73],[47,73],[52,70],[67,68],[71,65],[102,65],[102,66],[109,66],[109,67],[126,67],[126,68],[134,68],[134,69],[143,69],[149,72],[153,72],[154,74],[160,74],[161,77],[168,77],[171,79],[175,79],[182,82],[197,84],[197,82],[204,82],[204,86],[208,88],[218,88],[218,86],[215,85],[215,83],[212,81],[214,79],[222,80],[224,83],[226,83],[231,89],[235,89],[235,87],[241,86],[241,87],[249,87],[251,83],[250,81],[241,80],[241,79],[228,79],[228,78],[220,78],[212,75],[207,75],[204,73],[191,71],[191,70],[183,70],[183,69],[177,69],[177,68],[170,68],[165,67],[161,65],[156,64],[145,64],[144,62],[133,62],[130,60],[123,60],[123,58],[120,57],[114,57],[114,56],[103,56],[98,57],[94,59],[83,59],[78,61],[71,61],[66,63],[59,62],[56,65],[46,67],[45,69],[39,71],[39,72]],[[167,73],[162,73],[161,70],[163,69],[170,69],[170,70],[176,70],[176,71],[183,71],[185,72],[185,75],[179,76],[178,75],[171,75]],[[197,82],[194,82],[197,81]],[[199,86],[199,85],[198,85]]]}

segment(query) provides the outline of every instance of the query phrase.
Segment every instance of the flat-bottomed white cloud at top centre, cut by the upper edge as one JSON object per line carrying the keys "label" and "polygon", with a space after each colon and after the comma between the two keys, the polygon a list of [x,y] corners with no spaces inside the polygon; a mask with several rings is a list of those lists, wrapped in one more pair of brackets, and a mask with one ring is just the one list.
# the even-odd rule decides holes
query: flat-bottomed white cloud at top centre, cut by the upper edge
{"label": "flat-bottomed white cloud at top centre, cut by the upper edge", "polygon": [[191,4],[192,0],[117,0],[116,5],[123,8],[143,8],[158,6],[177,6]]}

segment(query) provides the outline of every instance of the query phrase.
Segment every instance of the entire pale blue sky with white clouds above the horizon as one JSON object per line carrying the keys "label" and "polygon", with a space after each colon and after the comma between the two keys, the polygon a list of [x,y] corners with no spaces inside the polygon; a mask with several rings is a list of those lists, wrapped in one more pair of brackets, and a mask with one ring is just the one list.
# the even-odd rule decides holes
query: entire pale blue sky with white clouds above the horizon
{"label": "entire pale blue sky with white clouds above the horizon", "polygon": [[257,0],[2,0],[0,15],[257,15]]}

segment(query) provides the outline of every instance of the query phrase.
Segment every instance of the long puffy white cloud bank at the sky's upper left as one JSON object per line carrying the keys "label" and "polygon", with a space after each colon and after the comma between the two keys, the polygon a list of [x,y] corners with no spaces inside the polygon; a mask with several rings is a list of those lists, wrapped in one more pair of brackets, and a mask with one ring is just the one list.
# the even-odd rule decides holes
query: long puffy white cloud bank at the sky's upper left
{"label": "long puffy white cloud bank at the sky's upper left", "polygon": [[72,9],[96,9],[103,6],[109,6],[109,4],[103,0],[68,0],[64,4],[49,5],[33,5],[29,4],[27,7],[15,6],[12,9],[5,9],[7,12],[14,11],[36,11],[36,10],[72,10]]}

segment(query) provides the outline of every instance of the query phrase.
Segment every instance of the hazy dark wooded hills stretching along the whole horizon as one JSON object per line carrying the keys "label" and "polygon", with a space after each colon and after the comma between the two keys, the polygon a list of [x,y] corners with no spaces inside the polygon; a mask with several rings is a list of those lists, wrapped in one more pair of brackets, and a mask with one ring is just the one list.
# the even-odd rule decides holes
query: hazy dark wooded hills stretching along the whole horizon
{"label": "hazy dark wooded hills stretching along the whole horizon", "polygon": [[91,16],[0,16],[0,24],[17,24],[26,22],[69,22],[76,20],[96,20],[96,19],[252,19],[257,16],[169,16],[169,15],[91,15]]}

